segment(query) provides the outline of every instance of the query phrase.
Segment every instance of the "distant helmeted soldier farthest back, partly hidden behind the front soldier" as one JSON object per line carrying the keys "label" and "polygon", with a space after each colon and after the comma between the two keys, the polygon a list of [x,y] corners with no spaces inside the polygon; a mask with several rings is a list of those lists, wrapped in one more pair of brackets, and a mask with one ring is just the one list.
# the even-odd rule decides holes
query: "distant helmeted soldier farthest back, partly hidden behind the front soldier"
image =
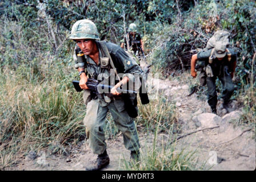
{"label": "distant helmeted soldier farthest back, partly hidden behind the front soldier", "polygon": [[142,41],[141,34],[138,33],[135,23],[131,23],[129,25],[127,36],[125,36],[124,42],[121,43],[121,47],[126,50],[128,49],[127,42],[129,43],[129,48],[133,51],[134,55],[138,56],[139,59],[142,58],[145,50],[144,43]]}

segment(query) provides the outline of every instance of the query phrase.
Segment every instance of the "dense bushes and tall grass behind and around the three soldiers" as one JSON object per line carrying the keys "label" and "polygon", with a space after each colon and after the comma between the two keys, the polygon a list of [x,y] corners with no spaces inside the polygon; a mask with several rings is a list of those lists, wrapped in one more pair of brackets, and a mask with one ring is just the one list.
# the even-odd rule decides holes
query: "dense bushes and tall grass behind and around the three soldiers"
{"label": "dense bushes and tall grass behind and around the three soldiers", "polygon": [[[214,31],[229,31],[230,46],[239,52],[235,97],[244,104],[242,122],[255,123],[255,1],[41,2],[45,11],[38,1],[0,2],[0,169],[29,150],[50,147],[65,155],[71,144],[85,138],[85,106],[71,85],[77,72],[74,42],[68,38],[78,19],[93,20],[101,39],[116,44],[122,42],[129,24],[137,23],[147,61],[162,77],[186,72],[191,55],[206,46]],[[157,125],[168,130],[176,119],[175,107],[163,98],[141,107],[137,123],[145,131]]]}

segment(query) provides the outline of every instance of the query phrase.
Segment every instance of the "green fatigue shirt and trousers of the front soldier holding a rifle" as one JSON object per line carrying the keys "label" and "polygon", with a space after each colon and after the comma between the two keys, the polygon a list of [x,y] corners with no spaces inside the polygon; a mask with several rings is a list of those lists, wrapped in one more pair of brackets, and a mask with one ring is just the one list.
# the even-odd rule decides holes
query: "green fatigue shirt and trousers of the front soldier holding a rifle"
{"label": "green fatigue shirt and trousers of the front soldier holding a rifle", "polygon": [[[96,43],[99,50],[98,65],[86,55],[86,62],[78,63],[75,57],[76,54],[74,55],[75,67],[85,68],[90,78],[101,81],[100,75],[104,75],[105,77],[110,76],[109,63],[103,62],[107,53],[102,48],[102,44],[106,45],[117,72],[124,73],[122,77],[128,76],[129,81],[134,81],[133,74],[140,75],[142,73],[141,68],[135,60],[131,59],[121,47],[109,42],[96,41]],[[83,100],[87,104],[87,111],[83,122],[85,123],[87,138],[89,138],[90,147],[94,154],[102,154],[106,150],[103,128],[108,111],[110,111],[115,125],[123,133],[123,140],[127,150],[138,151],[139,139],[134,119],[127,114],[122,97],[106,97],[106,94],[101,94],[88,99],[90,97],[89,95],[89,90],[85,90]],[[130,94],[130,98],[137,101],[136,94]]]}

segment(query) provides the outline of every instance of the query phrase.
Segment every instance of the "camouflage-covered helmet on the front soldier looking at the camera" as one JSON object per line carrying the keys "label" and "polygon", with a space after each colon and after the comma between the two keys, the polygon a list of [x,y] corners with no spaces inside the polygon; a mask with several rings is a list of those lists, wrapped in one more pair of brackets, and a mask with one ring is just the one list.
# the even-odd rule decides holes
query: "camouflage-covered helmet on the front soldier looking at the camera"
{"label": "camouflage-covered helmet on the front soldier looking at the camera", "polygon": [[99,40],[97,27],[89,19],[81,19],[75,22],[71,29],[70,39],[95,39]]}

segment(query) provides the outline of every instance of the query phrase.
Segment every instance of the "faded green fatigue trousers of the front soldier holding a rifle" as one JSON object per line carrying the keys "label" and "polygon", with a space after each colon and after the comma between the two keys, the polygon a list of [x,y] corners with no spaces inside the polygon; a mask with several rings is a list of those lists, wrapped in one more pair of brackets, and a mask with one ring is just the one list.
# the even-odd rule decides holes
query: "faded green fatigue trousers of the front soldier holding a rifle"
{"label": "faded green fatigue trousers of the front soldier holding a rifle", "polygon": [[94,154],[102,154],[106,150],[105,119],[110,111],[115,125],[123,133],[123,142],[127,150],[139,150],[139,139],[133,118],[129,117],[126,110],[118,112],[111,101],[109,105],[102,107],[97,100],[91,100],[87,104],[87,110],[83,122],[86,126],[86,136],[89,139],[90,148]]}

